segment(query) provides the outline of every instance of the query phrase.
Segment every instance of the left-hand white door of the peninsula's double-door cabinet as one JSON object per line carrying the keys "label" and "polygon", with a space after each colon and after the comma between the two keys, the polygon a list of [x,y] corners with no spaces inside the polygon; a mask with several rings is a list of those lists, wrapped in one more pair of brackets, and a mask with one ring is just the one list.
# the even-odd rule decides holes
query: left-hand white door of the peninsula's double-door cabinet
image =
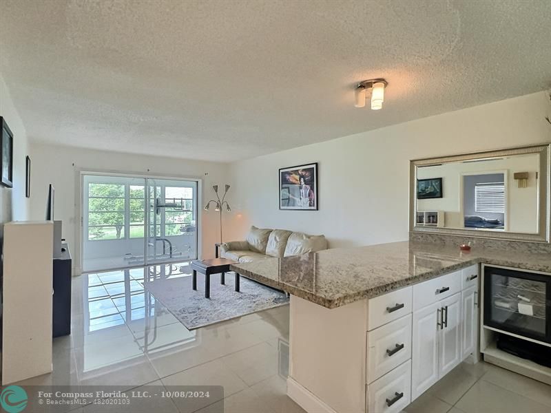
{"label": "left-hand white door of the peninsula's double-door cabinet", "polygon": [[426,306],[413,313],[411,353],[411,400],[415,400],[438,380],[438,335],[440,304]]}

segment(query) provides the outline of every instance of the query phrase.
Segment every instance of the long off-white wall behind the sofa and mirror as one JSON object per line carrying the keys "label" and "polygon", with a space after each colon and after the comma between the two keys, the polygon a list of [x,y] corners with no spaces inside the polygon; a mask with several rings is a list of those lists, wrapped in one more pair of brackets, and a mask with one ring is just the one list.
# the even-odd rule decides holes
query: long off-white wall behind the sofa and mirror
{"label": "long off-white wall behind the sofa and mirror", "polygon": [[[323,233],[331,247],[407,240],[410,160],[551,142],[548,112],[540,92],[234,162],[233,234],[254,224]],[[311,162],[320,210],[280,211],[278,169]]]}

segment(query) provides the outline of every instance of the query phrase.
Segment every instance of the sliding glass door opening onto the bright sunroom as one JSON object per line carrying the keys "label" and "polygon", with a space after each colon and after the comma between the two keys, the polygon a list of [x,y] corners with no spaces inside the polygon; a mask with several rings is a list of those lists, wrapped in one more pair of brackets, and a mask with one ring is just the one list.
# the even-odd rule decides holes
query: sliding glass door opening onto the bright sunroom
{"label": "sliding glass door opening onto the bright sunroom", "polygon": [[83,175],[83,271],[197,257],[192,180]]}

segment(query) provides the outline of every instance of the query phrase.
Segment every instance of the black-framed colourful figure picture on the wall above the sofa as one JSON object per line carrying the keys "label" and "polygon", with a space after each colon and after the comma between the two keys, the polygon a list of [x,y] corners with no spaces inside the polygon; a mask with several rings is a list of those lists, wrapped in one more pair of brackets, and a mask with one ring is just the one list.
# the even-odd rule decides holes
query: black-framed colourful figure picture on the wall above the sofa
{"label": "black-framed colourful figure picture on the wall above the sofa", "polygon": [[280,209],[318,211],[318,163],[280,169]]}

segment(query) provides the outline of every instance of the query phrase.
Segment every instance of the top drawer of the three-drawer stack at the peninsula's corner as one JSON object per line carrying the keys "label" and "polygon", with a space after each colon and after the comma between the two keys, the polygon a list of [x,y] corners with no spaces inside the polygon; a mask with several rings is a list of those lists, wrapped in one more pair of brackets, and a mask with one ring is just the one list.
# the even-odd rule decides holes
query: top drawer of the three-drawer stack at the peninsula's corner
{"label": "top drawer of the three-drawer stack at the peninsula's corner", "polygon": [[371,331],[411,313],[411,301],[410,286],[369,299],[367,303],[367,330]]}

